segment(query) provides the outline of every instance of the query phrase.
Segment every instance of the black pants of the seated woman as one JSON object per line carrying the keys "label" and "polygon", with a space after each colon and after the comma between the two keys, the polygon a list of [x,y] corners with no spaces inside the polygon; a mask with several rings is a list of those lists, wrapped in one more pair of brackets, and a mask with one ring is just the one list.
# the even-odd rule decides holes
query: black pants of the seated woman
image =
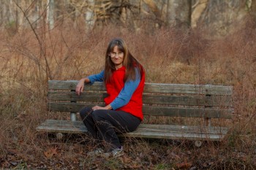
{"label": "black pants of the seated woman", "polygon": [[80,117],[89,134],[101,142],[110,144],[111,149],[121,147],[117,134],[135,131],[140,125],[140,119],[128,112],[85,107],[80,111]]}

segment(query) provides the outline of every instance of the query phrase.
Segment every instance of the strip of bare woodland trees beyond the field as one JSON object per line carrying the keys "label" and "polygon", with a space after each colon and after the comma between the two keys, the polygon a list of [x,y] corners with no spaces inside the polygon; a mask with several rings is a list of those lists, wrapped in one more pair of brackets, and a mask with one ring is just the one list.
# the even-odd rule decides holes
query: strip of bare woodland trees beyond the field
{"label": "strip of bare woodland trees beyond the field", "polygon": [[203,26],[209,36],[225,36],[245,15],[256,13],[253,0],[20,0],[1,1],[1,29],[12,31],[42,26],[53,29],[61,23],[83,25],[86,30],[113,24],[139,32],[147,29]]}

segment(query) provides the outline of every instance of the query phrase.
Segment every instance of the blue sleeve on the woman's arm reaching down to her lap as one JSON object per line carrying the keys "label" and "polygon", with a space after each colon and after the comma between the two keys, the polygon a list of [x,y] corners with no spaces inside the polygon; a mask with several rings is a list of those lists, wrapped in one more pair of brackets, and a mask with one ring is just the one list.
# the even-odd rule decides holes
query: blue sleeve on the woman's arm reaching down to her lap
{"label": "blue sleeve on the woman's arm reaching down to her lap", "polygon": [[110,106],[113,110],[123,107],[124,105],[128,104],[129,100],[132,98],[132,94],[138,88],[140,84],[140,74],[138,69],[136,69],[136,77],[135,80],[128,80],[124,83],[124,88],[121,89],[120,93],[116,97]]}

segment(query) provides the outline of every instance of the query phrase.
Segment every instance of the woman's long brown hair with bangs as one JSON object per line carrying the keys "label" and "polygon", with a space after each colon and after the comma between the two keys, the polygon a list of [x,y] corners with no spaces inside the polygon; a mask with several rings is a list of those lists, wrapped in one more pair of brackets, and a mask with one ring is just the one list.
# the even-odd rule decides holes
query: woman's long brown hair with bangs
{"label": "woman's long brown hair with bangs", "polygon": [[112,39],[112,41],[109,43],[106,54],[105,54],[105,75],[104,75],[105,83],[111,80],[112,73],[113,71],[116,70],[115,64],[111,61],[111,58],[110,58],[110,53],[113,52],[113,49],[116,46],[118,47],[118,50],[120,52],[124,53],[123,66],[126,68],[124,82],[126,82],[127,80],[135,80],[136,67],[138,67],[138,70],[140,71],[140,77],[142,77],[142,74],[144,72],[143,66],[139,63],[139,61],[135,57],[132,56],[131,53],[129,53],[129,50],[124,40],[116,38],[116,39]]}

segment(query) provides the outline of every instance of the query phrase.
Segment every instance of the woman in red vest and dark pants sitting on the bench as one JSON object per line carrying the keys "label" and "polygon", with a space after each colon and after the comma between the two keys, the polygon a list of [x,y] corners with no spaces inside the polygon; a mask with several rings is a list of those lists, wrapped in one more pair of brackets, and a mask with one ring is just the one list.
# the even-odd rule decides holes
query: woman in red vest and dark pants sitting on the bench
{"label": "woman in red vest and dark pants sitting on the bench", "polygon": [[105,82],[108,97],[105,107],[85,107],[80,117],[89,134],[104,143],[105,150],[89,154],[123,155],[117,134],[135,131],[143,120],[142,94],[145,83],[143,66],[129,53],[123,39],[113,39],[105,53],[105,69],[78,82],[76,93],[84,83]]}

